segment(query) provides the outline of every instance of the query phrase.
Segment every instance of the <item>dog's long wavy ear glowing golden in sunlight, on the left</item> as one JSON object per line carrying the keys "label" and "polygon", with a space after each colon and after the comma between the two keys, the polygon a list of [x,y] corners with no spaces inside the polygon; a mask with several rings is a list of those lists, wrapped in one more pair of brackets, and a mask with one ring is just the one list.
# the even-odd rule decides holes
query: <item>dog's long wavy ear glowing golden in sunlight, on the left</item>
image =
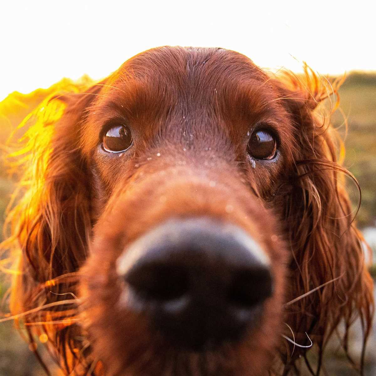
{"label": "dog's long wavy ear glowing golden in sunlight, on the left", "polygon": [[12,235],[3,245],[17,259],[11,312],[30,311],[22,320],[30,343],[36,349],[35,335],[44,335],[56,359],[62,355],[58,361],[67,374],[85,347],[74,324],[76,272],[91,230],[80,124],[100,88],[73,87],[74,92],[45,99],[21,124],[27,129],[25,146],[13,154],[15,167],[24,172],[18,189],[23,196],[8,217]]}

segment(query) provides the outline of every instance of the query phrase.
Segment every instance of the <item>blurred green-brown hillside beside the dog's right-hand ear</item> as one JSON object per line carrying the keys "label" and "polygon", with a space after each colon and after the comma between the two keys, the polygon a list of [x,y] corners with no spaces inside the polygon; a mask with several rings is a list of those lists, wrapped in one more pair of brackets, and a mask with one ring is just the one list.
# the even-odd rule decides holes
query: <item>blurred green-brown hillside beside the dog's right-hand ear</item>
{"label": "blurred green-brown hillside beside the dog's right-hand ear", "polygon": [[[340,111],[332,123],[346,147],[344,166],[358,179],[362,203],[359,227],[376,225],[376,73],[352,73],[340,88]],[[344,127],[347,118],[348,129]],[[352,197],[356,205],[357,197]]]}

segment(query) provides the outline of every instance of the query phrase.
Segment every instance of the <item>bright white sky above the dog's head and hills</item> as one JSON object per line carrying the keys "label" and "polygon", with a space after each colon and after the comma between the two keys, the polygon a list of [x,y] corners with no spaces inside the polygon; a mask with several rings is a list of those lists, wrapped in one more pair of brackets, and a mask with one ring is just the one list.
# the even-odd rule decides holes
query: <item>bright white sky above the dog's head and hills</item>
{"label": "bright white sky above the dog's head and hills", "polygon": [[100,79],[159,45],[224,47],[272,69],[376,70],[363,0],[2,1],[0,35],[0,100],[62,77]]}

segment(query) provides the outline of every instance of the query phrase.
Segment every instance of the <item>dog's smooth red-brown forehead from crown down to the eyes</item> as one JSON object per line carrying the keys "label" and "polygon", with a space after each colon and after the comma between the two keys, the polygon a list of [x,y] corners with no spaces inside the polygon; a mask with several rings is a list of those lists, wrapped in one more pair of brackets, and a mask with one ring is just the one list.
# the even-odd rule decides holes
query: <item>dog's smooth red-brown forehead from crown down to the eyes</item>
{"label": "dog's smooth red-brown forehead from crown down to the eyes", "polygon": [[159,47],[134,56],[108,77],[88,124],[125,118],[149,135],[163,132],[177,139],[220,129],[238,139],[238,132],[246,134],[261,120],[288,123],[274,101],[277,95],[269,76],[240,53]]}

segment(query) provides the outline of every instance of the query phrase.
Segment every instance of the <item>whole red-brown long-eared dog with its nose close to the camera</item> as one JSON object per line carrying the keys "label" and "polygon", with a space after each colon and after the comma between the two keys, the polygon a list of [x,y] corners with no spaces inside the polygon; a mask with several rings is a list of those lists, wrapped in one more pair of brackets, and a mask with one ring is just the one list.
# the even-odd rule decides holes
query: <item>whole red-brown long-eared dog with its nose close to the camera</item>
{"label": "whole red-brown long-eared dog with its nose close to the camera", "polygon": [[160,47],[47,98],[5,243],[37,356],[66,375],[319,374],[340,323],[347,349],[360,317],[365,344],[373,283],[317,112],[337,87]]}

